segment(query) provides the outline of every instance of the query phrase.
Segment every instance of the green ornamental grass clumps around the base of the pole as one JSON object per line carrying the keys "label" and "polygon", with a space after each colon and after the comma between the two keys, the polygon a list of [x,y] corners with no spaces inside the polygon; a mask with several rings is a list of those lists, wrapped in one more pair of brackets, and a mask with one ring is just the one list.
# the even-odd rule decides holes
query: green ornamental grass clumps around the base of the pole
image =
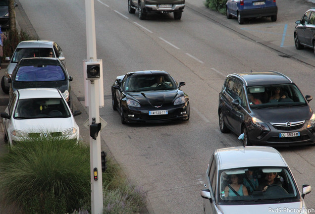
{"label": "green ornamental grass clumps around the base of the pole", "polygon": [[[19,142],[0,158],[0,196],[21,213],[88,214],[90,182],[89,147],[64,138]],[[145,206],[146,194],[129,184],[110,158],[103,186],[104,214],[139,213]]]}

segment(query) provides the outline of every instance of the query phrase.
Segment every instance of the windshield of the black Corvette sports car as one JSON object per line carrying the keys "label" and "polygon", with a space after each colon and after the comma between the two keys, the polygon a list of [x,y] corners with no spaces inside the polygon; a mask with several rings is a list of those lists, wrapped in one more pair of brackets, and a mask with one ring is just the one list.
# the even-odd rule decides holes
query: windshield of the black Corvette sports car
{"label": "windshield of the black Corvette sports car", "polygon": [[124,91],[156,91],[156,90],[174,90],[177,85],[173,78],[167,74],[157,75],[136,75],[129,76],[123,83]]}

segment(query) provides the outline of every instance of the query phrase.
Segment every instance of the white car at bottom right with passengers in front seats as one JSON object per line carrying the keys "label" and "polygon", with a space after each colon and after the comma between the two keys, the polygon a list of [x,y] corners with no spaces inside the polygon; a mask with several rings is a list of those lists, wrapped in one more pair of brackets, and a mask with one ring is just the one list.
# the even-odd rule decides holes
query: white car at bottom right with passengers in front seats
{"label": "white car at bottom right with passengers in front seats", "polygon": [[201,191],[205,214],[308,214],[288,164],[272,147],[216,150]]}

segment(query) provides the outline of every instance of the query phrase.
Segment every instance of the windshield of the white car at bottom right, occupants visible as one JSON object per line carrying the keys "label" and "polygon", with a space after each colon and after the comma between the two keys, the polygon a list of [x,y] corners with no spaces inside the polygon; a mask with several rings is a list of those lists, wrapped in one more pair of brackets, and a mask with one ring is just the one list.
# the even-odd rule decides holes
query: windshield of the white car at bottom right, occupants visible
{"label": "windshield of the white car at bottom right, occupants visible", "polygon": [[298,189],[287,167],[244,167],[219,172],[221,203],[298,199]]}

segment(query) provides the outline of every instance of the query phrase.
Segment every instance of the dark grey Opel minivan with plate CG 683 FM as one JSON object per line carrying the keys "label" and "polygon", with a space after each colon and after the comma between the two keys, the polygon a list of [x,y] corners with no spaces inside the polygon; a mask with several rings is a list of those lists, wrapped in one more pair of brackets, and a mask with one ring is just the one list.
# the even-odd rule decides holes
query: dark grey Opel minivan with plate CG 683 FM
{"label": "dark grey Opel minivan with plate CG 683 FM", "polygon": [[314,144],[312,99],[279,72],[230,74],[219,93],[220,130],[239,135],[244,146]]}

